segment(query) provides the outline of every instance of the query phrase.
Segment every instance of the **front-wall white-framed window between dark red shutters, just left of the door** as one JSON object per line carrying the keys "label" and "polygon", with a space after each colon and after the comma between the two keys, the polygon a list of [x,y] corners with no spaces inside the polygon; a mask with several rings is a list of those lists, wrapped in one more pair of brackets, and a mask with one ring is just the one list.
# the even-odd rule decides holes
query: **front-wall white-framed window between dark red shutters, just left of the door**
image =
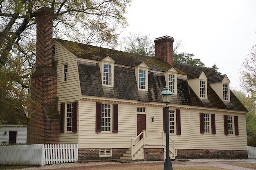
{"label": "front-wall white-framed window between dark red shutters, just left of the door", "polygon": [[102,104],[101,112],[101,130],[110,131],[111,105]]}

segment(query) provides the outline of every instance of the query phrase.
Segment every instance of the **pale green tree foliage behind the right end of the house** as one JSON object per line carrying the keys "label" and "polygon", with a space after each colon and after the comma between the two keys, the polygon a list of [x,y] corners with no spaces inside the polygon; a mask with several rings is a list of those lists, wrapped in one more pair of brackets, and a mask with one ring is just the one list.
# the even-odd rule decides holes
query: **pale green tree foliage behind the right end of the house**
{"label": "pale green tree foliage behind the right end of the house", "polygon": [[236,89],[232,89],[232,92],[248,110],[246,115],[247,137],[250,138],[256,136],[256,104],[254,99],[247,97],[242,91]]}

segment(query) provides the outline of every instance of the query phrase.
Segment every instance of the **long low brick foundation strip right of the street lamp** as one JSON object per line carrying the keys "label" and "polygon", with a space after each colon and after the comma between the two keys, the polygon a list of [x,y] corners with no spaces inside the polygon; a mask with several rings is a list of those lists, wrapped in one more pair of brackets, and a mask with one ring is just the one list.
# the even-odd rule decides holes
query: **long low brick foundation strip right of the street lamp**
{"label": "long low brick foundation strip right of the street lamp", "polygon": [[177,158],[222,158],[222,159],[247,159],[247,150],[204,150],[204,149],[177,149]]}

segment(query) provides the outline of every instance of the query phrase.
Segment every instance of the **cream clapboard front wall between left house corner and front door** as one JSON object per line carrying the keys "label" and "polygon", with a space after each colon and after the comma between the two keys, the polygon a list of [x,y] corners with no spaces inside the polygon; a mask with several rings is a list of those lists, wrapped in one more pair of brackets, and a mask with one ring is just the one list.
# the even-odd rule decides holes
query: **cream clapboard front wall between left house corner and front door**
{"label": "cream clapboard front wall between left house corner and front door", "polygon": [[95,101],[80,101],[79,114],[79,148],[129,148],[137,136],[136,105],[118,104],[118,133],[95,132]]}

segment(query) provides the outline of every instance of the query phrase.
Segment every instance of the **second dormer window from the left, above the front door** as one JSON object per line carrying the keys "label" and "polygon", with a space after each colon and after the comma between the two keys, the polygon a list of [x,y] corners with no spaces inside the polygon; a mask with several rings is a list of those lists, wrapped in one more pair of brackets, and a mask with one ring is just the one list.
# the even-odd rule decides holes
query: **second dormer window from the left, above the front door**
{"label": "second dormer window from the left, above the front door", "polygon": [[148,66],[141,63],[134,68],[139,91],[148,91]]}

